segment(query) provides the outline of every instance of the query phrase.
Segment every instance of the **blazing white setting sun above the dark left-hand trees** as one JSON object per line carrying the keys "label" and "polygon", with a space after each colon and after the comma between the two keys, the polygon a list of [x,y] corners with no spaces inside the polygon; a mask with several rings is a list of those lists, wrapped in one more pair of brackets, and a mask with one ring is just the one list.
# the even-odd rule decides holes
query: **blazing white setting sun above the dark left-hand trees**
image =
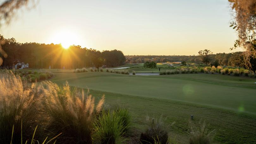
{"label": "blazing white setting sun above the dark left-hand trees", "polygon": [[78,43],[78,36],[72,30],[59,30],[51,38],[51,42],[61,44],[64,49]]}

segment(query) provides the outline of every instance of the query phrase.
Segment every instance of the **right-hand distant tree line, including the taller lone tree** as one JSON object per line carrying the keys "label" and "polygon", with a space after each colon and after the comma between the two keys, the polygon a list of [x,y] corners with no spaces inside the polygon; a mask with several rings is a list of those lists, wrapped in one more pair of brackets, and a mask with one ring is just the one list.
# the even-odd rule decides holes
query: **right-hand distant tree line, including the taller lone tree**
{"label": "right-hand distant tree line, including the taller lone tree", "polygon": [[256,70],[256,59],[251,58],[251,66],[247,65],[245,60],[245,52],[234,52],[234,53],[216,53],[213,54],[210,50],[201,50],[198,52],[198,55],[190,56],[158,56],[158,55],[133,55],[125,56],[126,63],[146,63],[146,62],[186,62],[186,63],[195,63],[195,64],[206,64],[206,65],[226,65],[233,67],[244,67]]}

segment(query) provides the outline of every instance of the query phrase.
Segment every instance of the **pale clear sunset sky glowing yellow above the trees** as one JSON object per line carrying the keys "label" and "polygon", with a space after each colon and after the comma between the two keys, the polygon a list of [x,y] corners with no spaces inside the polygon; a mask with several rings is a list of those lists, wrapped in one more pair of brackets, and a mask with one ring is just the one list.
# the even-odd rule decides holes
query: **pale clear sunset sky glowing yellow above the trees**
{"label": "pale clear sunset sky glowing yellow above the trees", "polygon": [[[197,55],[230,50],[228,0],[35,0],[0,28],[17,42],[75,44],[125,55]],[[38,2],[37,2],[38,1]]]}

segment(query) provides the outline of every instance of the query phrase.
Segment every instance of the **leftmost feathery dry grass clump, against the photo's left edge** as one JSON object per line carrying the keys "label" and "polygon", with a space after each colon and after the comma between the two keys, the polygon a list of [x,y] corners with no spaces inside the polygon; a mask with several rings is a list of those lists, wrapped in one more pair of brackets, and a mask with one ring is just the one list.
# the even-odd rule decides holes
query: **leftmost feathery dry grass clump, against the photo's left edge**
{"label": "leftmost feathery dry grass clump, against the photo's left edge", "polygon": [[0,143],[10,143],[12,133],[12,143],[21,143],[21,131],[24,140],[30,139],[27,135],[33,135],[35,120],[41,120],[41,95],[36,93],[35,84],[22,82],[12,71],[0,70],[0,77]]}

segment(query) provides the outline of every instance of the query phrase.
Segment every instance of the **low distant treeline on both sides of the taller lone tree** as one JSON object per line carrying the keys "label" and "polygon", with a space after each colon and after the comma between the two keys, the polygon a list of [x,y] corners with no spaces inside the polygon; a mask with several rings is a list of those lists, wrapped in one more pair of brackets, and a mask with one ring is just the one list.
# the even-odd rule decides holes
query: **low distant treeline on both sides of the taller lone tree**
{"label": "low distant treeline on both sides of the taller lone tree", "polygon": [[[145,63],[154,61],[156,63],[164,62],[182,62],[203,64],[200,56],[157,56],[157,55],[133,55],[125,56],[126,63]],[[217,61],[219,65],[230,65],[243,67],[243,52],[235,53],[216,53],[210,56],[210,63]]]}

